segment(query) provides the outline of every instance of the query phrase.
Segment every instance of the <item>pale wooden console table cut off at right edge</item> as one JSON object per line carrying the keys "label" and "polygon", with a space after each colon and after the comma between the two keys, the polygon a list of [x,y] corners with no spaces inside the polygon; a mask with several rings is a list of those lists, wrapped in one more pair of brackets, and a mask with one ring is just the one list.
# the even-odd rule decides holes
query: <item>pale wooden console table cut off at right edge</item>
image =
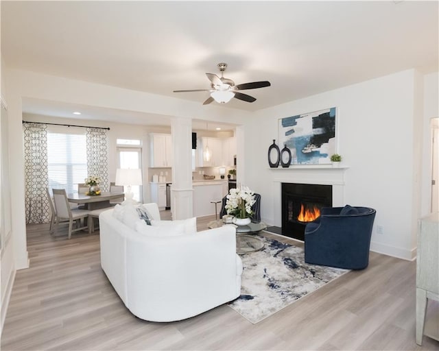
{"label": "pale wooden console table cut off at right edge", "polygon": [[439,315],[426,320],[428,300],[439,301],[439,213],[420,220],[416,257],[416,343],[439,341]]}

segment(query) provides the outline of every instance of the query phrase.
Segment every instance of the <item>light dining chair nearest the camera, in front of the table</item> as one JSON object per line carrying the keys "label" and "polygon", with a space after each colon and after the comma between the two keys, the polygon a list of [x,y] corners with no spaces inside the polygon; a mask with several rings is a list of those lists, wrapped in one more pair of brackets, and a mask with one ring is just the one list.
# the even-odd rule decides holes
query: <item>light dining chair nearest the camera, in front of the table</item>
{"label": "light dining chair nearest the camera, in front of the table", "polygon": [[[69,239],[71,239],[71,233],[78,230],[84,230],[88,228],[88,213],[89,210],[80,210],[70,208],[69,200],[67,200],[67,193],[65,189],[53,189],[54,202],[56,210],[56,228],[58,230],[58,224],[62,220],[69,221]],[[81,219],[84,219],[84,226],[81,226]],[[87,219],[87,225],[85,225],[85,219]],[[76,222],[76,228],[73,229],[73,221]]]}

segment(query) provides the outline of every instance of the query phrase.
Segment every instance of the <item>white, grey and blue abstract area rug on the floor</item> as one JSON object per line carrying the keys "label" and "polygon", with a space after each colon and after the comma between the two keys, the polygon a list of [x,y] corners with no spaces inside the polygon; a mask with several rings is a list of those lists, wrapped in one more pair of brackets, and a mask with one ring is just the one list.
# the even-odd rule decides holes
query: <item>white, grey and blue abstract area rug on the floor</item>
{"label": "white, grey and blue abstract area rug on the floor", "polygon": [[241,255],[241,296],[228,304],[253,324],[349,271],[309,265],[302,247],[260,238],[261,251]]}

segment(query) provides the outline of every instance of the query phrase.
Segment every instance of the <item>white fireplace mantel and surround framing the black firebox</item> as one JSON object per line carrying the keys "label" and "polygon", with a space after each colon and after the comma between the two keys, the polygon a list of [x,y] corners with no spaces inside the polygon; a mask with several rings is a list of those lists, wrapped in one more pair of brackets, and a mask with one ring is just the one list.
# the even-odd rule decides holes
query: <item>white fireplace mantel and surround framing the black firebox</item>
{"label": "white fireplace mantel and surround framing the black firebox", "polygon": [[344,206],[344,174],[349,167],[332,167],[331,165],[303,165],[288,168],[270,168],[276,175],[273,178],[274,226],[281,226],[282,204],[281,184],[321,184],[332,185],[332,204],[334,207]]}

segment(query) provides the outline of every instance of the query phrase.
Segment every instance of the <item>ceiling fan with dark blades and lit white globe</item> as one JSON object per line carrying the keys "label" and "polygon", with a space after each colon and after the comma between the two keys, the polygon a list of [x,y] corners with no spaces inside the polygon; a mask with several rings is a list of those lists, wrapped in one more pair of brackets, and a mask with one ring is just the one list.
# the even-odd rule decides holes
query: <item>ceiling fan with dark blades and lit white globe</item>
{"label": "ceiling fan with dark blades and lit white globe", "polygon": [[217,101],[217,103],[219,104],[226,104],[228,103],[228,101],[233,99],[233,97],[242,101],[254,102],[256,101],[256,98],[244,93],[240,93],[240,90],[264,88],[265,86],[271,85],[270,82],[266,80],[262,82],[251,82],[235,85],[235,82],[233,82],[233,80],[229,80],[228,78],[224,77],[224,71],[226,71],[227,64],[221,62],[217,64],[217,66],[219,68],[219,71],[221,71],[221,77],[218,77],[216,74],[213,73],[206,73],[207,77],[211,81],[211,89],[174,90],[174,93],[209,91],[211,93],[211,96],[206,99],[206,101],[204,101],[203,105],[210,104],[214,100]]}

